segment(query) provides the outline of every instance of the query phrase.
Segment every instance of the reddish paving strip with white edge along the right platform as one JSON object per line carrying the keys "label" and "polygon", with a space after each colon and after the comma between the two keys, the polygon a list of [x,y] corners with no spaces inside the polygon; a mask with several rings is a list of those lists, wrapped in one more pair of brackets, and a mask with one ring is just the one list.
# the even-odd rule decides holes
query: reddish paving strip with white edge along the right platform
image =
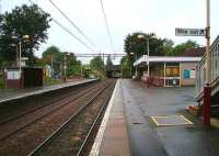
{"label": "reddish paving strip with white edge along the right platform", "polygon": [[116,83],[101,126],[90,156],[129,156],[130,148],[120,80]]}

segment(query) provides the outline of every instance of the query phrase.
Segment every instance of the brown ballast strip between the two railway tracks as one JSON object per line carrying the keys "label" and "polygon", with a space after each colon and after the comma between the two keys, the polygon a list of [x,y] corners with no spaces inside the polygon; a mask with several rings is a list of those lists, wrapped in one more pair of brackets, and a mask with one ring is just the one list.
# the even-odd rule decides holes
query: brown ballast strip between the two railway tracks
{"label": "brown ballast strip between the two railway tracks", "polygon": [[[87,93],[80,93],[73,96],[69,103],[53,111],[41,119],[37,119],[30,124],[18,129],[18,131],[11,132],[8,136],[0,140],[0,155],[13,155],[25,156],[33,151],[38,144],[41,144],[46,137],[48,137],[54,131],[67,121],[77,110],[87,103],[94,93],[101,88],[103,89],[106,83],[112,81],[99,82],[87,90]],[[67,102],[65,101],[65,102]],[[60,103],[59,103],[60,104]],[[9,124],[10,125],[10,124]],[[3,131],[0,126],[0,132]],[[13,129],[14,125],[11,125]],[[5,129],[4,129],[5,130]],[[8,131],[7,131],[8,132]]]}

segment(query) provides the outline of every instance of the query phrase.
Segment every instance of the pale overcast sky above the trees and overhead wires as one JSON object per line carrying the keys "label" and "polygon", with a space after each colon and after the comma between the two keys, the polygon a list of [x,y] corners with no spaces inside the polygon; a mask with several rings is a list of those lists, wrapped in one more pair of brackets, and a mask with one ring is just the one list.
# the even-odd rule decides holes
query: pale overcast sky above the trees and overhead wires
{"label": "pale overcast sky above the trees and overhead wires", "polygon": [[[28,0],[0,0],[1,12],[10,11],[15,5],[27,3]],[[51,5],[49,0],[32,0],[44,11],[70,30],[82,41],[87,40]],[[114,53],[110,43],[101,0],[53,0],[83,33],[95,44],[95,53]],[[205,45],[204,37],[175,36],[175,27],[204,29],[206,25],[206,0],[102,0],[107,16],[115,53],[124,53],[124,38],[128,33],[141,31],[155,33],[158,37],[166,37],[175,44],[187,40]],[[219,34],[219,1],[211,0],[211,41]],[[51,22],[48,41],[36,52],[56,45],[61,51],[72,53],[93,53]],[[88,43],[89,44],[89,43]],[[92,46],[92,45],[91,45]],[[88,59],[83,59],[84,63]]]}

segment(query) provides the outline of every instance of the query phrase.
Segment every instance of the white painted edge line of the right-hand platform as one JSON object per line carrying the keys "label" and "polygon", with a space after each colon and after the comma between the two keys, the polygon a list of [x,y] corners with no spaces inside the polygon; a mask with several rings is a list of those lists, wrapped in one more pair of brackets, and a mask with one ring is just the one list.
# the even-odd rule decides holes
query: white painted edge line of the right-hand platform
{"label": "white painted edge line of the right-hand platform", "polygon": [[97,156],[99,155],[101,143],[102,143],[103,135],[104,135],[104,131],[105,131],[106,124],[108,122],[111,109],[112,109],[112,105],[113,105],[113,101],[115,99],[116,91],[118,89],[118,85],[119,85],[119,80],[117,80],[117,82],[116,82],[116,86],[115,86],[115,89],[113,91],[112,98],[110,100],[108,107],[106,109],[106,112],[104,114],[103,121],[102,121],[101,126],[99,129],[99,132],[96,134],[96,137],[95,137],[95,141],[93,143],[93,146],[91,148],[90,156]]}

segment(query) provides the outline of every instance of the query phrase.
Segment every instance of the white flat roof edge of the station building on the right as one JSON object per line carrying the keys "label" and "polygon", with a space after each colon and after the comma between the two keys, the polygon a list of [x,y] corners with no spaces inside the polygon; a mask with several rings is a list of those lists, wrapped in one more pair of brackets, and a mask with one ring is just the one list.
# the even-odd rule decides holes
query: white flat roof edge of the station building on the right
{"label": "white flat roof edge of the station building on the right", "polygon": [[188,57],[188,56],[147,56],[143,55],[134,63],[134,66],[148,63],[198,63],[201,57]]}

